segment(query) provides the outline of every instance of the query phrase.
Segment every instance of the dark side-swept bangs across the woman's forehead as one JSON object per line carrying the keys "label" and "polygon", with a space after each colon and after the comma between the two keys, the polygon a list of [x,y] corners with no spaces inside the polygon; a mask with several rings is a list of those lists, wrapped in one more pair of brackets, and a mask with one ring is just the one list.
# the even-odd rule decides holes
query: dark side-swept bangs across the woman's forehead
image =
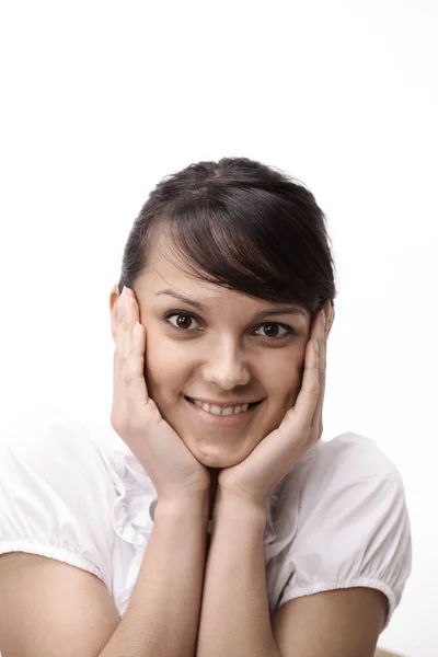
{"label": "dark side-swept bangs across the woman's forehead", "polygon": [[309,266],[315,235],[299,204],[261,188],[216,187],[214,197],[208,192],[168,207],[162,227],[181,269],[266,301],[299,302],[313,312],[310,290],[321,272]]}

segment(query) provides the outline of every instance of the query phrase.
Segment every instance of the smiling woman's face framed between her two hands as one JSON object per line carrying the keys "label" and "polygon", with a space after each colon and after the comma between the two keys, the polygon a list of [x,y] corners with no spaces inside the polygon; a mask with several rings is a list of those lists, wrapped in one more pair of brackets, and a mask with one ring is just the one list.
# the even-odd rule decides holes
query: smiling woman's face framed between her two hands
{"label": "smiling woman's face framed between her two hands", "polygon": [[[309,312],[196,280],[177,267],[165,243],[134,291],[147,335],[148,392],[161,415],[207,468],[240,463],[295,404]],[[116,299],[117,286],[111,298],[114,339]],[[258,404],[217,415],[187,397],[219,407]]]}

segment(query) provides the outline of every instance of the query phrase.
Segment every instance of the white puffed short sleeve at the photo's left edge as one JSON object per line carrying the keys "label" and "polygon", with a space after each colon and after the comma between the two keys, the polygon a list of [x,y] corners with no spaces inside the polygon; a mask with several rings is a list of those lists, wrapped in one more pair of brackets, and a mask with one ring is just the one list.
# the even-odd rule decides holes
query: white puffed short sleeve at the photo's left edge
{"label": "white puffed short sleeve at the photo's left edge", "polygon": [[2,426],[0,554],[27,552],[83,568],[111,591],[114,496],[96,445],[51,414]]}

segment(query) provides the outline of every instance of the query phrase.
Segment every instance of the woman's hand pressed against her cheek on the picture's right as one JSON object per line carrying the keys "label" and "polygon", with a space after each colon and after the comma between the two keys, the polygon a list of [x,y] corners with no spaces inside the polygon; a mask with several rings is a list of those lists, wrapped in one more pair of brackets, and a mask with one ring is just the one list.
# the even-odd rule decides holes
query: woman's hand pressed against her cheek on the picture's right
{"label": "woman's hand pressed against her cheek on the picture's right", "polygon": [[[264,507],[275,486],[321,438],[326,341],[333,316],[332,304],[327,301],[313,320],[306,348],[302,385],[295,406],[286,413],[280,426],[268,434],[246,459],[220,470],[218,492],[231,493],[251,506]],[[318,341],[318,354],[314,339]]]}

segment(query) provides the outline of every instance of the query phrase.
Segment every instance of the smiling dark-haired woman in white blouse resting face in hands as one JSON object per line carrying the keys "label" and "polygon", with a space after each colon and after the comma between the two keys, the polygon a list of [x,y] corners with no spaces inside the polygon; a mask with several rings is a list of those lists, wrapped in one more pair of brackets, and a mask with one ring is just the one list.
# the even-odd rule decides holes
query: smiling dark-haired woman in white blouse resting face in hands
{"label": "smiling dark-haired woman in white blouse resting face in hands", "polygon": [[373,655],[410,523],[371,439],[320,440],[334,298],[301,184],[226,158],[155,187],[110,299],[111,422],[2,448],[4,657]]}

